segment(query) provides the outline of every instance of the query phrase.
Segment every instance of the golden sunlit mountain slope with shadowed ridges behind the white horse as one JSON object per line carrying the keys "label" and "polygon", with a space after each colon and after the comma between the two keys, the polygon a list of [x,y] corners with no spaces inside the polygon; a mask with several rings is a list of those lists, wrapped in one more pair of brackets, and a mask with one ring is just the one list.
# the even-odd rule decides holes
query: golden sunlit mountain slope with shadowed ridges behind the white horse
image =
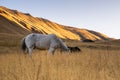
{"label": "golden sunlit mountain slope with shadowed ridges behind the white horse", "polygon": [[28,34],[29,32],[40,32],[43,34],[54,33],[64,39],[73,40],[105,40],[107,36],[86,29],[78,29],[63,26],[43,18],[31,16],[0,6],[0,33]]}

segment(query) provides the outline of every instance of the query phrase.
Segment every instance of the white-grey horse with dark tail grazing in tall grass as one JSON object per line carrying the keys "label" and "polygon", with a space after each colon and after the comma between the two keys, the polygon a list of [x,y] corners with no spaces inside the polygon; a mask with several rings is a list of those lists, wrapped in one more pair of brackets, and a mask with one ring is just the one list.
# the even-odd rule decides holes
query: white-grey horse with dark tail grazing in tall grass
{"label": "white-grey horse with dark tail grazing in tall grass", "polygon": [[23,51],[27,49],[29,55],[32,54],[34,48],[48,49],[48,53],[52,54],[54,54],[57,48],[59,48],[61,51],[69,51],[69,48],[66,46],[66,44],[55,34],[44,35],[31,33],[23,38],[21,47]]}

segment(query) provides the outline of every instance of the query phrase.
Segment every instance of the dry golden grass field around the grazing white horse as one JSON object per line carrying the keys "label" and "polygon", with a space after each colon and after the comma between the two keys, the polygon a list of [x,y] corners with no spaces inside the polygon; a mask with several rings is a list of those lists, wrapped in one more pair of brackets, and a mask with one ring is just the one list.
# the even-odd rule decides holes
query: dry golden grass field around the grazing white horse
{"label": "dry golden grass field around the grazing white horse", "polygon": [[23,36],[0,37],[0,80],[120,80],[120,47],[117,42],[66,41],[82,52],[55,55],[20,50]]}

